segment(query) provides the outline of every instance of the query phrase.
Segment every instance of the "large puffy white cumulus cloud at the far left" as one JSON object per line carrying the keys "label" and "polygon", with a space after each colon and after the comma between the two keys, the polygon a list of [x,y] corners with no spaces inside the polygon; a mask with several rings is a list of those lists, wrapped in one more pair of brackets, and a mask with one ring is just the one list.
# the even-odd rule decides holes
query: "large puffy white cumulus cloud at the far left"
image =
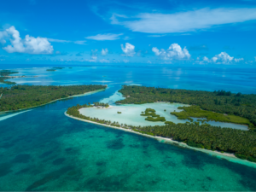
{"label": "large puffy white cumulus cloud at the far left", "polygon": [[25,39],[21,39],[20,32],[15,29],[15,26],[0,32],[1,43],[6,44],[7,38],[10,44],[3,49],[9,53],[52,54],[53,52],[53,47],[47,38],[34,38],[26,35]]}

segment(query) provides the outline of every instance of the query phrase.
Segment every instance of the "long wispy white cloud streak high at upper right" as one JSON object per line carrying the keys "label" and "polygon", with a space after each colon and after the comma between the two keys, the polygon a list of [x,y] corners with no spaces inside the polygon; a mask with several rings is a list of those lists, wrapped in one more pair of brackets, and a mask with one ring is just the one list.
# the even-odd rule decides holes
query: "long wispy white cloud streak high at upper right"
{"label": "long wispy white cloud streak high at upper right", "polygon": [[132,18],[113,14],[112,24],[123,25],[133,32],[193,32],[212,26],[256,20],[256,9],[198,9],[174,14],[140,14]]}

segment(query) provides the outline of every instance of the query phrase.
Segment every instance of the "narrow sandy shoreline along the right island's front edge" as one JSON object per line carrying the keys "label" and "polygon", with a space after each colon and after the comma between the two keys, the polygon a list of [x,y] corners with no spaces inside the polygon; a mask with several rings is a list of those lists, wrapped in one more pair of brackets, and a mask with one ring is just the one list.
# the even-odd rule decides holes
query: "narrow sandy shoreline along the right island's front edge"
{"label": "narrow sandy shoreline along the right island's front edge", "polygon": [[207,150],[205,148],[193,148],[193,147],[190,147],[189,145],[187,145],[186,143],[177,142],[177,141],[172,140],[171,138],[150,136],[150,135],[143,134],[143,133],[140,133],[140,132],[137,132],[137,131],[128,130],[128,129],[125,129],[125,128],[122,128],[122,127],[116,127],[116,126],[112,126],[112,125],[104,125],[104,124],[100,124],[100,123],[90,121],[90,120],[86,120],[86,119],[79,119],[77,117],[73,117],[72,115],[67,114],[67,111],[64,114],[69,118],[84,121],[86,123],[102,125],[102,126],[109,127],[109,128],[112,128],[112,129],[118,129],[118,130],[121,130],[121,131],[131,132],[131,133],[134,133],[134,134],[137,134],[137,135],[141,135],[143,137],[153,138],[153,139],[159,141],[160,143],[172,144],[172,145],[175,145],[175,146],[181,147],[181,148],[193,149],[195,151],[200,151],[202,153],[209,154],[209,155],[217,157],[219,159],[229,160],[230,162],[235,162],[235,163],[239,163],[239,164],[244,165],[244,166],[252,166],[252,167],[256,168],[256,163],[253,163],[253,162],[248,161],[248,160],[241,160],[241,159],[237,158],[234,154],[221,153],[221,152],[218,152],[218,151]]}

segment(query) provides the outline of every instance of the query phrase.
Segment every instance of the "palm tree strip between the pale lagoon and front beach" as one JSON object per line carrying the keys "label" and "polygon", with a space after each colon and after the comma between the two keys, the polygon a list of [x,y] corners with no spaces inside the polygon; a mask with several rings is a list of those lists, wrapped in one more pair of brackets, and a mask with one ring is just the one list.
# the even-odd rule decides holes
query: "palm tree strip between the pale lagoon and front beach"
{"label": "palm tree strip between the pale lagoon and front beach", "polygon": [[256,162],[256,132],[241,131],[231,128],[220,128],[210,125],[174,124],[166,121],[166,125],[133,126],[123,125],[110,120],[90,118],[79,113],[80,108],[88,107],[77,105],[67,109],[67,114],[79,119],[86,119],[103,125],[112,125],[131,129],[143,134],[160,137],[170,137],[178,142],[187,143],[191,147],[218,150],[235,153],[236,157]]}

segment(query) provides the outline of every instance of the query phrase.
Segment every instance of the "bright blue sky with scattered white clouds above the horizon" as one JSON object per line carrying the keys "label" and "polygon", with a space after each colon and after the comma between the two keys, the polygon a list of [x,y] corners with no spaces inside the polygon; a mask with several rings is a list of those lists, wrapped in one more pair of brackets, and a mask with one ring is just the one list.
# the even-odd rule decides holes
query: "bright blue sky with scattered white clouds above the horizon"
{"label": "bright blue sky with scattered white clouds above the horizon", "polygon": [[256,0],[3,0],[0,64],[256,65]]}

